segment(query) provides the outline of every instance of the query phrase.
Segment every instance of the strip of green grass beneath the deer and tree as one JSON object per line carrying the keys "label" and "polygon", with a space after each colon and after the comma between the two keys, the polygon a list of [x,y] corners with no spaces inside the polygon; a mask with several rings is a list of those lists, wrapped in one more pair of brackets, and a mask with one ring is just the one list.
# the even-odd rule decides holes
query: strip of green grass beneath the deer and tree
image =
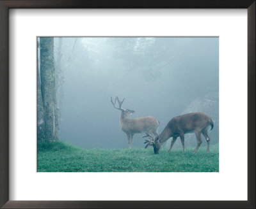
{"label": "strip of green grass beneath the deer and tree", "polygon": [[218,146],[167,149],[154,154],[152,148],[83,149],[63,142],[38,143],[38,172],[218,172]]}

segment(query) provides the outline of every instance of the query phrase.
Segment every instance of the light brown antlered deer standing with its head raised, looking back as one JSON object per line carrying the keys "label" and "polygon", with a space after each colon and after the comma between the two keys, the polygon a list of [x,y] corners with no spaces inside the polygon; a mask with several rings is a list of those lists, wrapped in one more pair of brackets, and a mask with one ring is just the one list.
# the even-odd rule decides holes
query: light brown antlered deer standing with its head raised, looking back
{"label": "light brown antlered deer standing with its head raised, looking back", "polygon": [[[111,103],[114,108],[121,111],[120,126],[122,131],[124,131],[124,133],[127,135],[129,148],[131,148],[133,135],[136,133],[147,132],[148,134],[154,134],[154,136],[158,136],[157,128],[159,126],[159,120],[152,116],[140,117],[137,119],[127,119],[127,116],[132,115],[135,111],[122,108],[124,99],[120,101],[116,96],[114,103],[111,97]],[[116,106],[116,101],[118,101],[119,107]]]}

